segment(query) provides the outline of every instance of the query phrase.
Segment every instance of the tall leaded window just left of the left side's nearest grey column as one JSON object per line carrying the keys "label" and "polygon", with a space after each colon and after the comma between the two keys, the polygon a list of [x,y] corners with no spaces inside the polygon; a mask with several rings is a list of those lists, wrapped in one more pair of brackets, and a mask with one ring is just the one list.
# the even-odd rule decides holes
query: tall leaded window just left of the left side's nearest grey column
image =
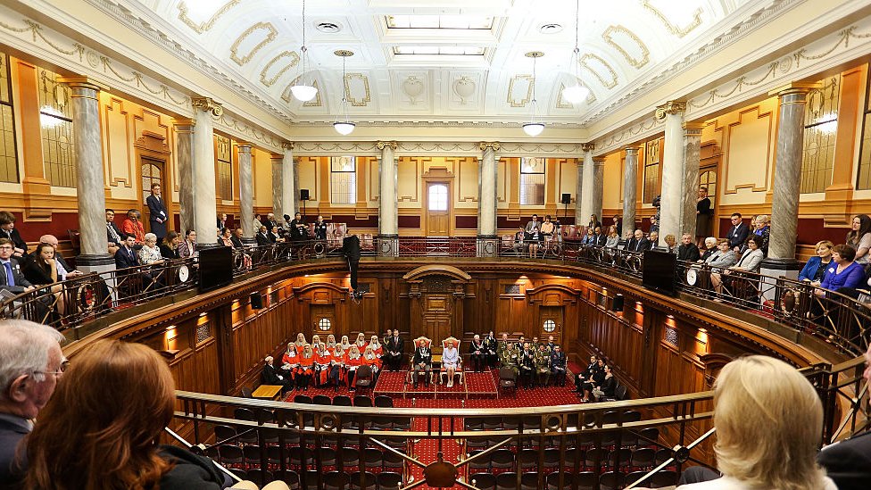
{"label": "tall leaded window just left of the left side's nearest grey column", "polygon": [[72,142],[70,87],[57,83],[52,71],[39,71],[39,123],[46,179],[57,187],[76,187],[76,153]]}

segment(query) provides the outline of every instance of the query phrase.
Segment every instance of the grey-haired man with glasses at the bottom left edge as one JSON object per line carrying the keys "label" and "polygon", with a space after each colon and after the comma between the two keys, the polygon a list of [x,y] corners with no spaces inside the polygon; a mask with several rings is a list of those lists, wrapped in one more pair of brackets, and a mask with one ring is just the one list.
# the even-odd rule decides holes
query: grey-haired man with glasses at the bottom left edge
{"label": "grey-haired man with glasses at the bottom left edge", "polygon": [[62,339],[54,328],[32,321],[0,321],[0,487],[21,486],[27,452],[18,445],[66,369]]}

